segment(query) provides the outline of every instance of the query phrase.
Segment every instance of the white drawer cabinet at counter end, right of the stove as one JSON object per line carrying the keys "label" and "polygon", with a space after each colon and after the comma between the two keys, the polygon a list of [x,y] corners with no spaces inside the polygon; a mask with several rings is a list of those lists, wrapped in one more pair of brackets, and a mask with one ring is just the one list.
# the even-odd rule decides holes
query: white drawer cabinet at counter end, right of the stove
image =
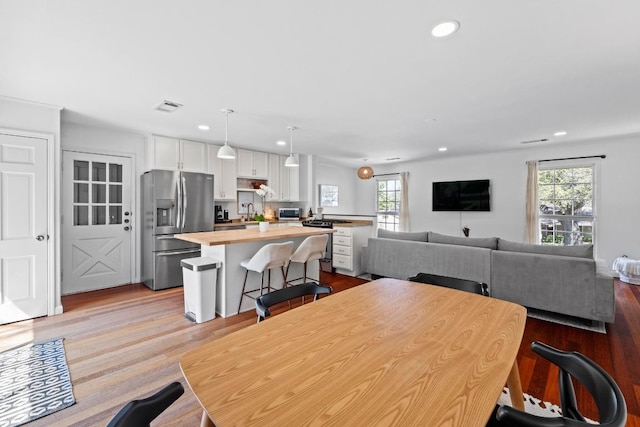
{"label": "white drawer cabinet at counter end, right of the stove", "polygon": [[367,244],[371,227],[340,227],[334,225],[333,267],[336,273],[358,276],[363,273],[360,262],[362,247]]}

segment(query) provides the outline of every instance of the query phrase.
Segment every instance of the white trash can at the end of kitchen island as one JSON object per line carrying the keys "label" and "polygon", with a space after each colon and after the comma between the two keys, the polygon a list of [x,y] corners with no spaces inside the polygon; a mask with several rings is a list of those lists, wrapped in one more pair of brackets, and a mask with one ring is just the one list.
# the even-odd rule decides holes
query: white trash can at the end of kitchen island
{"label": "white trash can at the end of kitchen island", "polygon": [[184,316],[196,323],[216,317],[216,279],[221,262],[213,258],[180,261],[184,282]]}

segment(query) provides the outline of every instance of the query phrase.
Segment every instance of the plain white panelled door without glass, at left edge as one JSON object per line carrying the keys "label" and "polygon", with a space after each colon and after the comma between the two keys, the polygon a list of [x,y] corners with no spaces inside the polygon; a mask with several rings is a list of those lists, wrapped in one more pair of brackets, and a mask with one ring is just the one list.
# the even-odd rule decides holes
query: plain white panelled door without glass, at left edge
{"label": "plain white panelled door without glass, at left edge", "polygon": [[47,144],[0,133],[0,324],[48,314]]}

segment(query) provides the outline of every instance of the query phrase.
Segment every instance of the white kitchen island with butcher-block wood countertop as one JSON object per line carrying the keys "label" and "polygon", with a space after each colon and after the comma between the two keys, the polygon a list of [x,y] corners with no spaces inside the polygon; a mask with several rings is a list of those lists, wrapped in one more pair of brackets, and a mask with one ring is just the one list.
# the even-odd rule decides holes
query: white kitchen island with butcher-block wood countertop
{"label": "white kitchen island with butcher-block wood countertop", "polygon": [[[331,228],[313,227],[269,227],[261,232],[257,229],[209,231],[203,233],[176,234],[176,239],[198,243],[201,256],[210,257],[222,262],[218,269],[216,289],[216,313],[222,317],[236,314],[238,302],[242,292],[245,269],[240,266],[240,261],[251,258],[261,247],[267,243],[294,242],[294,250],[308,236],[328,234],[335,232]],[[289,269],[289,278],[302,276],[302,265],[294,263]],[[317,262],[309,263],[307,272],[310,277],[319,277]],[[267,274],[265,274],[267,276]],[[266,280],[266,279],[265,279]],[[282,278],[279,271],[272,271],[271,281],[276,287],[280,287]],[[247,289],[260,286],[260,276],[257,273],[249,273]],[[245,298],[240,311],[254,310],[252,299]]]}

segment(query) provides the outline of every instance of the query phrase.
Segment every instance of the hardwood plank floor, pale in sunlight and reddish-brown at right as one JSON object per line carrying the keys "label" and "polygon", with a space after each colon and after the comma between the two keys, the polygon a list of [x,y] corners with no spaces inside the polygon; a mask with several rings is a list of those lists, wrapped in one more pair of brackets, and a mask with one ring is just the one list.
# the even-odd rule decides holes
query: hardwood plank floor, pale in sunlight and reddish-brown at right
{"label": "hardwood plank floor, pale in sunlight and reddish-brown at right", "polygon": [[[341,290],[365,281],[321,273]],[[518,362],[525,392],[559,403],[557,370],[529,348],[539,340],[595,360],[618,382],[627,400],[627,425],[640,426],[640,286],[616,281],[616,321],[607,334],[528,319]],[[63,337],[77,403],[29,426],[104,426],[129,400],[182,381],[178,361],[188,350],[255,323],[255,313],[193,324],[183,317],[182,288],[153,292],[140,284],[63,297],[65,313],[0,326],[0,351]],[[295,304],[294,304],[295,306]],[[283,306],[281,310],[286,310]],[[191,391],[155,425],[197,426],[201,409]],[[578,389],[585,415],[595,405]],[[582,402],[584,400],[584,403]]]}

